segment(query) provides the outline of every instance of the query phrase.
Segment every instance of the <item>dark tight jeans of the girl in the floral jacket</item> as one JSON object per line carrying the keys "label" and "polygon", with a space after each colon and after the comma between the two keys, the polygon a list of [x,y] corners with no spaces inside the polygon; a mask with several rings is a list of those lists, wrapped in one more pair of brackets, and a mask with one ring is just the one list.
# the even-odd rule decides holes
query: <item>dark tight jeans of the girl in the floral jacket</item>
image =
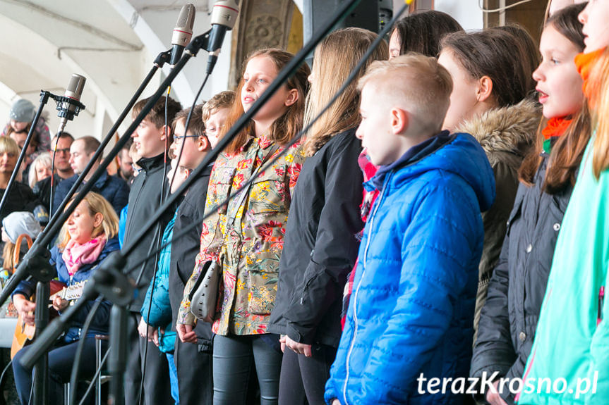
{"label": "dark tight jeans of the girl in the floral jacket", "polygon": [[260,405],[277,405],[282,353],[260,336],[214,337],[214,405],[245,405],[252,363]]}

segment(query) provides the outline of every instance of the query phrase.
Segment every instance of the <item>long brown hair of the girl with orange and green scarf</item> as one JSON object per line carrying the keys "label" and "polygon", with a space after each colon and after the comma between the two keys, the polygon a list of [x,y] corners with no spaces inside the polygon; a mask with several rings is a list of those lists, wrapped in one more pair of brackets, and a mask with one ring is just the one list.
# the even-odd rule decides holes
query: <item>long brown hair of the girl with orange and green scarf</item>
{"label": "long brown hair of the girl with orange and green scarf", "polygon": [[[584,50],[584,34],[581,32],[581,24],[577,15],[584,9],[586,4],[574,4],[562,8],[554,13],[545,23],[555,28],[560,35],[569,39],[577,46],[579,51]],[[518,172],[518,177],[525,185],[533,185],[535,173],[543,161],[543,135],[541,129],[545,126],[545,120],[539,125],[536,146],[524,158]],[[588,106],[584,102],[581,109],[575,113],[573,121],[563,135],[561,135],[550,151],[548,169],[545,171],[545,180],[542,190],[548,194],[557,194],[565,187],[575,184],[575,177],[581,157],[590,139],[591,119]]]}

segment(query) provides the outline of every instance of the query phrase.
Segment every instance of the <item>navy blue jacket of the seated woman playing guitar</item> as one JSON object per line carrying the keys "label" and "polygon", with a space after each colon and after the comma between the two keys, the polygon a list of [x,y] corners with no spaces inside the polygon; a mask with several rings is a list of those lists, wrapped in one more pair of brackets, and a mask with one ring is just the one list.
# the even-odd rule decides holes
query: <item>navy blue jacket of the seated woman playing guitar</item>
{"label": "navy blue jacket of the seated woman playing guitar", "polygon": [[[119,239],[116,239],[116,237],[109,239],[106,242],[102,253],[94,263],[83,264],[83,266],[81,266],[72,277],[70,277],[70,274],[68,273],[68,267],[66,266],[66,262],[64,262],[64,258],[61,257],[61,251],[59,251],[57,247],[53,247],[53,249],[51,249],[50,262],[54,264],[55,268],[57,269],[57,278],[59,279],[59,281],[70,286],[76,284],[77,282],[88,280],[88,278],[90,278],[90,276],[92,275],[93,271],[95,271],[95,269],[100,266],[100,263],[104,261],[104,258],[106,258],[115,250],[119,250]],[[23,294],[25,297],[30,297],[35,294],[35,291],[35,282],[22,281],[19,283],[19,285],[13,292],[13,295]],[[64,340],[66,342],[72,342],[73,340],[77,340],[80,338],[80,328],[83,327],[85,319],[87,318],[87,315],[90,312],[93,304],[94,301],[88,301],[88,303],[85,304],[85,306],[83,306],[83,308],[76,313],[76,316],[71,319],[70,328],[68,329],[68,332],[66,332],[66,336],[64,337]],[[97,312],[95,313],[95,316],[91,321],[87,336],[91,337],[95,335],[108,334],[111,306],[112,304],[110,301],[102,301],[102,304],[100,304],[100,308],[97,309]]]}

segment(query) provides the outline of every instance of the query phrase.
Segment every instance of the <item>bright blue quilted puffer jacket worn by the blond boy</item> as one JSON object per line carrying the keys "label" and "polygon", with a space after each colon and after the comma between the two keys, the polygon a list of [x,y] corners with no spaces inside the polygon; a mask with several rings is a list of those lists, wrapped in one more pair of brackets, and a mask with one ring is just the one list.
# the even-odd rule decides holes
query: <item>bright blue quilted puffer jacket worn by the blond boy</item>
{"label": "bright blue quilted puffer jacket worn by the blond boy", "polygon": [[460,404],[462,396],[418,393],[416,379],[468,375],[493,170],[471,135],[442,132],[381,167],[366,188],[381,193],[325,399]]}

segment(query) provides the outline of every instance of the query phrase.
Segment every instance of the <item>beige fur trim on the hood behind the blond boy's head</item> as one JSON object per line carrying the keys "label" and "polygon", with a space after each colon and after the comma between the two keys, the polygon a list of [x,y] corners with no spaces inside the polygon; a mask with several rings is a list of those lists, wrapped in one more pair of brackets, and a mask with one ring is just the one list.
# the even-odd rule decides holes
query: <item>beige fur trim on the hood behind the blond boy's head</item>
{"label": "beige fur trim on the hood behind the blond boy's head", "polygon": [[466,132],[480,142],[491,166],[507,152],[524,157],[535,142],[541,119],[541,108],[535,101],[524,99],[513,106],[493,108],[466,120],[454,132]]}

